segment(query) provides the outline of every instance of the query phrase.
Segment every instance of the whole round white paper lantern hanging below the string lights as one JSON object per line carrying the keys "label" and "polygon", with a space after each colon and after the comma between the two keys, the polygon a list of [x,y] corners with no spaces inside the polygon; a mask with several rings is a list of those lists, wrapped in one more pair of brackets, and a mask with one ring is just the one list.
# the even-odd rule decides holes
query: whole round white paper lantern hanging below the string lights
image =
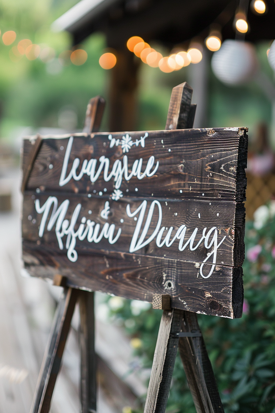
{"label": "whole round white paper lantern hanging below the string lights", "polygon": [[249,81],[258,67],[254,46],[241,40],[225,40],[214,52],[211,66],[216,77],[228,85]]}

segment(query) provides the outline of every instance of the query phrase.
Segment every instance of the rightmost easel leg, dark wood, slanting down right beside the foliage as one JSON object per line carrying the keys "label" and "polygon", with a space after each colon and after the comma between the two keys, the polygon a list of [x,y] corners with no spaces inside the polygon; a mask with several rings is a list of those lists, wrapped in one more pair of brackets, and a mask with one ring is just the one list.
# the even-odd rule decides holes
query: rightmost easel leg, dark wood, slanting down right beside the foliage
{"label": "rightmost easel leg, dark wood, slanting down right beside the foliage", "polygon": [[[201,333],[196,313],[183,311],[183,332]],[[180,337],[179,353],[197,413],[223,413],[213,369],[201,337]]]}

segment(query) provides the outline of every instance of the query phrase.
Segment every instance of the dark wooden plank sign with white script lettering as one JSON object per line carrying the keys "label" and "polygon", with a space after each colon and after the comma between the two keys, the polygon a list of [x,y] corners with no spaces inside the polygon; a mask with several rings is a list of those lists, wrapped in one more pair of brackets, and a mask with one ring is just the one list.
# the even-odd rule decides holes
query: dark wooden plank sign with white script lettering
{"label": "dark wooden plank sign with white script lettering", "polygon": [[[246,128],[45,136],[24,192],[32,275],[242,313]],[[23,169],[35,138],[24,140]]]}

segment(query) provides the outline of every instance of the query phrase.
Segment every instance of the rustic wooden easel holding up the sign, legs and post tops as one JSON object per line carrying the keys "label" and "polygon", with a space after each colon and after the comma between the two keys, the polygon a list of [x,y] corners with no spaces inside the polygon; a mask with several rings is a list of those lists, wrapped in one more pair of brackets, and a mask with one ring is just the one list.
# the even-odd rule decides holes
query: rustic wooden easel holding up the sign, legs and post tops
{"label": "rustic wooden easel holding up the sign, legs and post tops", "polygon": [[[192,88],[187,83],[172,91],[165,129],[190,129],[193,127],[196,105],[191,104]],[[86,112],[83,132],[99,130],[105,101],[91,99]],[[40,148],[37,139],[37,151]],[[36,153],[35,153],[36,152]],[[31,168],[24,173],[24,190]],[[81,406],[82,413],[96,412],[96,355],[94,352],[94,293],[66,287],[66,278],[56,275],[54,285],[64,287],[50,332],[35,390],[31,413],[48,413],[56,377],[61,365],[71,318],[76,301],[80,304],[81,350]],[[164,413],[177,347],[193,396],[197,413],[223,412],[214,373],[197,323],[196,313],[170,308],[170,297],[155,294],[153,308],[163,309],[157,337],[152,373],[145,404],[145,413]]]}

